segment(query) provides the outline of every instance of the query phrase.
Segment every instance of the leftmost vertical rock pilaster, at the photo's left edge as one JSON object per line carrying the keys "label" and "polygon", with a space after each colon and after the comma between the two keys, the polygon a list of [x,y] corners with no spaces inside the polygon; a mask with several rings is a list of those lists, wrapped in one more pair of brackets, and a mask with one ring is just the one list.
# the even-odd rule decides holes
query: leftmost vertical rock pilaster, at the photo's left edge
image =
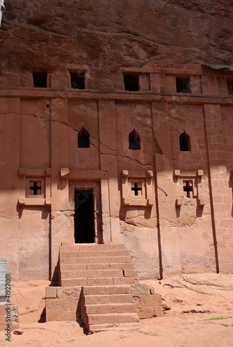
{"label": "leftmost vertical rock pilaster, at the photo's left edge", "polygon": [[1,97],[0,109],[0,244],[13,280],[19,273],[20,99]]}

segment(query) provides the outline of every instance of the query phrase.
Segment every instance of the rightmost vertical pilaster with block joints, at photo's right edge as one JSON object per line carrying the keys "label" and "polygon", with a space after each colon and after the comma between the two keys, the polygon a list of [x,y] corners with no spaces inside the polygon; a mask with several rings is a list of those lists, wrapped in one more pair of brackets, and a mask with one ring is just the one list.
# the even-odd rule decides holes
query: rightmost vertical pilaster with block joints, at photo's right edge
{"label": "rightmost vertical pilaster with block joints, at photo's right edge", "polygon": [[232,189],[229,187],[220,105],[204,105],[204,118],[216,271],[228,272],[232,271],[233,252]]}

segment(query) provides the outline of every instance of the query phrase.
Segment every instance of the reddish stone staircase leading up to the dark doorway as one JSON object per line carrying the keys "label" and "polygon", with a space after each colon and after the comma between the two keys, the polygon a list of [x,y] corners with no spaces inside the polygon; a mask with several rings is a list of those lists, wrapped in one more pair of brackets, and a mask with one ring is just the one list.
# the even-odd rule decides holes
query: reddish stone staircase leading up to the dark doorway
{"label": "reddish stone staircase leading up to the dark doorway", "polygon": [[138,325],[131,286],[138,274],[121,244],[63,244],[60,285],[81,286],[79,310],[88,332]]}

